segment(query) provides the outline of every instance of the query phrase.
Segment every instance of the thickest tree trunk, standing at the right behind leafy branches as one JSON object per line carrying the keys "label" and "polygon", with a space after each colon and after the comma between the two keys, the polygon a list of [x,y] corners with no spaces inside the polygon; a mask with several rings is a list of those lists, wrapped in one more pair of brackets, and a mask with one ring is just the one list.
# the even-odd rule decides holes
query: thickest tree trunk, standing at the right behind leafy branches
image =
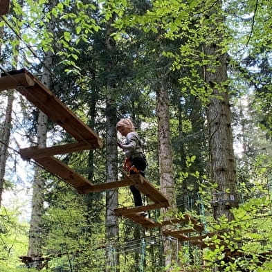
{"label": "thickest tree trunk, standing at the right behind leafy branches", "polygon": [[[227,80],[226,54],[218,55],[219,49],[215,44],[206,47],[206,55],[217,56],[220,63],[217,66],[209,65],[206,70],[206,83],[212,89],[207,109],[210,179],[212,183],[218,184],[212,201],[215,219],[226,215],[226,218],[232,220],[230,208],[236,207],[238,201],[235,188],[235,158],[228,88],[222,84]],[[215,69],[214,73],[211,72],[212,69]]]}

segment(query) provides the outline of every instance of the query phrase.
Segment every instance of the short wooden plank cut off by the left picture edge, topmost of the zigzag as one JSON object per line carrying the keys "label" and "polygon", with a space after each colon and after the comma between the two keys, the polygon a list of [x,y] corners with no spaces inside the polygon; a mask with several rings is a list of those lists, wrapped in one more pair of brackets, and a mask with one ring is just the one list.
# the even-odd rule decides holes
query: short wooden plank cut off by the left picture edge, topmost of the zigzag
{"label": "short wooden plank cut off by the left picture edge, topmost of the zigzag", "polygon": [[[0,0],[1,1],[1,0]],[[2,73],[0,78],[0,91],[16,89],[18,87],[34,86],[32,76],[26,73],[25,69]]]}

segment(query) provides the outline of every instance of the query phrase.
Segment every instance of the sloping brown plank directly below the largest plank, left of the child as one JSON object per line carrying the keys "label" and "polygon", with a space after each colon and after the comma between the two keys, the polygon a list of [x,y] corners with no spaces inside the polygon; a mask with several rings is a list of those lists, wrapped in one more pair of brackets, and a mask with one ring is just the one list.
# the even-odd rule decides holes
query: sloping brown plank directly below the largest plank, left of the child
{"label": "sloping brown plank directly below the largest plank, left of the child", "polygon": [[89,186],[90,188],[93,187],[93,183],[91,183],[91,181],[88,181],[83,176],[73,171],[66,164],[57,160],[57,158],[54,157],[37,158],[35,161],[49,172],[56,174],[66,183],[72,185],[81,194],[84,193],[80,189],[81,187],[86,186]]}

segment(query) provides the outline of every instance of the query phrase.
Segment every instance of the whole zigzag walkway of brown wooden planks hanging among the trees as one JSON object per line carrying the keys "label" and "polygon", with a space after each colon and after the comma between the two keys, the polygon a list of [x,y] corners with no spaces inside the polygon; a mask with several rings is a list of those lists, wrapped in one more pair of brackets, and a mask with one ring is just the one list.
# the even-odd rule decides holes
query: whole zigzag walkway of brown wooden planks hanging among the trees
{"label": "whole zigzag walkway of brown wooden planks hanging among the trees", "polygon": [[55,158],[55,155],[100,148],[102,147],[102,139],[99,138],[98,134],[93,132],[92,129],[85,125],[82,120],[75,116],[75,114],[51,93],[42,82],[35,78],[34,75],[26,71],[26,69],[2,73],[0,78],[0,91],[9,89],[16,89],[21,95],[25,96],[28,101],[42,110],[48,118],[51,118],[53,122],[60,125],[60,127],[75,139],[74,143],[65,145],[54,145],[45,148],[33,146],[20,149],[19,153],[22,158],[25,160],[34,160],[45,170],[48,170],[55,174],[55,176],[60,177],[60,179],[64,180],[66,183],[72,185],[80,194],[135,185],[142,194],[152,201],[152,203],[134,208],[118,208],[115,210],[116,215],[130,219],[137,224],[140,224],[140,226],[145,229],[173,224],[189,224],[190,228],[164,230],[164,234],[182,241],[193,241],[194,243],[199,242],[199,244],[201,244],[201,237],[194,240],[192,240],[191,237],[188,237],[188,233],[201,233],[203,231],[203,225],[190,217],[190,215],[184,215],[184,217],[180,219],[170,219],[161,222],[140,215],[140,212],[147,212],[149,210],[167,208],[170,206],[168,199],[140,174],[127,176],[120,181],[93,184],[91,181],[84,178],[84,176],[71,169],[71,167]]}

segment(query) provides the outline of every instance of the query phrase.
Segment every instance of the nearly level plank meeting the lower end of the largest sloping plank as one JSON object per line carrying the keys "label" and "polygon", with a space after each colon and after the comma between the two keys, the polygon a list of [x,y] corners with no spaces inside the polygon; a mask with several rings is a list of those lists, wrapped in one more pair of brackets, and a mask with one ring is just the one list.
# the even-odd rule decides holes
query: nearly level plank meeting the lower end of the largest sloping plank
{"label": "nearly level plank meeting the lower end of the largest sloping plank", "polygon": [[24,160],[29,160],[30,158],[44,158],[48,156],[55,156],[60,154],[68,154],[72,152],[78,152],[82,150],[91,149],[93,147],[93,140],[88,143],[69,143],[66,145],[55,145],[53,147],[39,148],[38,146],[21,148],[20,154]]}

